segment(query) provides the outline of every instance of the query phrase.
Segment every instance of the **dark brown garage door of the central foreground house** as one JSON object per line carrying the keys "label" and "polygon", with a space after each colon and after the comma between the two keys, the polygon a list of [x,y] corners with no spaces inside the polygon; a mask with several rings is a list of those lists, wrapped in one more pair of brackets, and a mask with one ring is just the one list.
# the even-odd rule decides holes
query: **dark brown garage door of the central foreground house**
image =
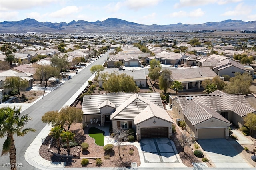
{"label": "dark brown garage door of the central foreground house", "polygon": [[140,137],[145,138],[168,138],[168,128],[158,127],[158,128],[141,128]]}

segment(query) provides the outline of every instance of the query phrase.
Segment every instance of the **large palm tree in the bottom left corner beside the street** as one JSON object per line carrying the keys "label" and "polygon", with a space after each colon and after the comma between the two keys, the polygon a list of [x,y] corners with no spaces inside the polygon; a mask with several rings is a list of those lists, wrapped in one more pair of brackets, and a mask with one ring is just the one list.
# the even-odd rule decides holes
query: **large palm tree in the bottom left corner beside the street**
{"label": "large palm tree in the bottom left corner beside the street", "polygon": [[[35,130],[32,128],[24,128],[31,118],[27,114],[20,117],[21,107],[2,107],[0,111],[0,138],[7,136],[2,147],[1,156],[9,153],[10,164],[15,165],[16,148],[13,136],[21,137]],[[11,167],[11,169],[16,170],[17,167]]]}

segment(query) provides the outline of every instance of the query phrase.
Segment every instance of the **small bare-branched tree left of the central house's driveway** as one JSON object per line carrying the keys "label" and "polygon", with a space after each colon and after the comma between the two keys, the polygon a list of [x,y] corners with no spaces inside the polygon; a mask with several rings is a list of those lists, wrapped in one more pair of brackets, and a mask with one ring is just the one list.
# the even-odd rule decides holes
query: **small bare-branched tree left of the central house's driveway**
{"label": "small bare-branched tree left of the central house's driveway", "polygon": [[125,162],[122,160],[122,157],[120,155],[120,146],[122,145],[123,142],[126,142],[128,140],[128,136],[131,135],[129,133],[128,130],[124,130],[123,128],[121,127],[117,127],[114,131],[114,139],[116,141],[116,144],[118,146],[118,155],[119,155],[119,158],[122,162],[122,164],[124,164]]}

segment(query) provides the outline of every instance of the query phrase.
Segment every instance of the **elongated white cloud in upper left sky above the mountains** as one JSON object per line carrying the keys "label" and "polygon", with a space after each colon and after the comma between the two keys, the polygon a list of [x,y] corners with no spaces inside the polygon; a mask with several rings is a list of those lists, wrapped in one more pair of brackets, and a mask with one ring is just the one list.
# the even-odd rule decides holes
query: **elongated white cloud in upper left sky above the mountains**
{"label": "elongated white cloud in upper left sky above the mountains", "polygon": [[80,8],[78,8],[77,6],[67,6],[58,11],[50,13],[48,16],[53,18],[64,18],[66,16],[69,16],[70,14],[78,13],[79,11]]}

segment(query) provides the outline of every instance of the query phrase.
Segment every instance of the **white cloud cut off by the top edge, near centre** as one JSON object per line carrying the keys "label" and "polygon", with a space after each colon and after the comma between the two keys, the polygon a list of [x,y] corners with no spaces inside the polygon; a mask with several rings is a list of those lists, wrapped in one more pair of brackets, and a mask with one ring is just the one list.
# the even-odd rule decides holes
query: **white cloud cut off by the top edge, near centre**
{"label": "white cloud cut off by the top edge, near centre", "polygon": [[161,0],[126,0],[124,5],[132,10],[139,10],[148,6],[156,6]]}

